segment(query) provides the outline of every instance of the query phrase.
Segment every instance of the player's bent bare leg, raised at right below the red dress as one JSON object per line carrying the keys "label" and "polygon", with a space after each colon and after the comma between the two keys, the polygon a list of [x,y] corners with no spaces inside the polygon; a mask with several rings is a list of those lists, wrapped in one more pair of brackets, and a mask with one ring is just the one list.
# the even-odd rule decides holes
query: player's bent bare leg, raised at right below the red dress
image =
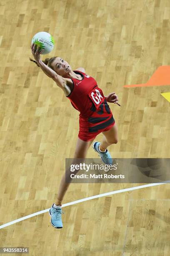
{"label": "player's bent bare leg, raised at right below the red dress", "polygon": [[105,151],[106,148],[112,144],[117,143],[117,125],[115,124],[109,131],[102,132],[103,139],[99,148],[101,151]]}

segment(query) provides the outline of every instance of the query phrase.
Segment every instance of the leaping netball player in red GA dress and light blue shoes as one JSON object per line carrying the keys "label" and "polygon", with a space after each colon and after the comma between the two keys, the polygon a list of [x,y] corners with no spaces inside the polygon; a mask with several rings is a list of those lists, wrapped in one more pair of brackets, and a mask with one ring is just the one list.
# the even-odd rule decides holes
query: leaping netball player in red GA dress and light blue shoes
{"label": "leaping netball player in red GA dress and light blue shoes", "polygon": [[[117,127],[107,102],[117,103],[117,95],[112,92],[108,96],[104,96],[102,90],[97,86],[96,80],[87,75],[82,67],[73,71],[70,64],[58,56],[42,61],[40,59],[42,51],[39,51],[39,47],[32,44],[31,49],[35,61],[30,60],[34,61],[48,77],[56,82],[71,101],[72,106],[80,111],[80,129],[74,159],[84,159],[97,134],[102,133],[102,142],[94,142],[93,149],[105,164],[112,164],[112,158],[107,147],[117,143]],[[70,184],[65,182],[65,176],[66,174],[61,179],[57,200],[49,211],[51,224],[55,228],[62,228],[63,226],[61,219],[62,200]]]}

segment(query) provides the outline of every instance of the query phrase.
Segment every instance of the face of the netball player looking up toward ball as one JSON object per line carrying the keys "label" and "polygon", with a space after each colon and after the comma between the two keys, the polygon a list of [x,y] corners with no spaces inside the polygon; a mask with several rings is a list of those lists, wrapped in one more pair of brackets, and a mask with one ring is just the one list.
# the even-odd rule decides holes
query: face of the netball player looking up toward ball
{"label": "face of the netball player looking up toward ball", "polygon": [[61,57],[55,58],[52,62],[52,67],[54,71],[62,77],[67,76],[71,71],[71,66]]}

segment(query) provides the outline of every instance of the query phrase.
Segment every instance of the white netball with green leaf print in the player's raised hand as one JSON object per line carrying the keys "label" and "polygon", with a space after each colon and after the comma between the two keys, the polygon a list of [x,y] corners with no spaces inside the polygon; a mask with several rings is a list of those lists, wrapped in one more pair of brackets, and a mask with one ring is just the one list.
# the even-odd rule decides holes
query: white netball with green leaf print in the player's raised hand
{"label": "white netball with green leaf print in the player's raised hand", "polygon": [[54,38],[47,32],[38,32],[33,36],[31,44],[40,46],[40,50],[43,49],[41,54],[48,54],[54,48]]}

